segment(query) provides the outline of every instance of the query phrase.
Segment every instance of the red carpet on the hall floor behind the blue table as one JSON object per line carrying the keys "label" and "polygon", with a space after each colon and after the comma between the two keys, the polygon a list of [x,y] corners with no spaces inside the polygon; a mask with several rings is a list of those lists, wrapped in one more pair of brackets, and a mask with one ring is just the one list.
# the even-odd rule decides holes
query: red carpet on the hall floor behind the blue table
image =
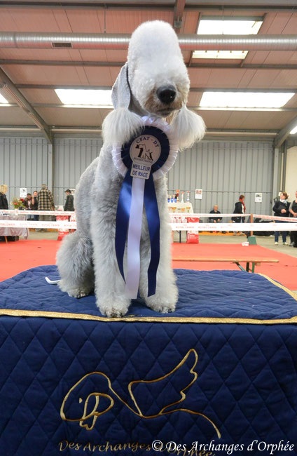
{"label": "red carpet on the hall floor behind the blue table", "polygon": [[[21,271],[43,264],[55,264],[57,249],[60,241],[25,240],[0,243],[0,281],[15,276]],[[172,244],[173,257],[240,257],[255,255],[255,257],[275,258],[279,263],[262,263],[256,266],[256,272],[265,274],[271,279],[282,283],[289,290],[297,290],[297,258],[278,253],[261,246],[244,247],[241,244]],[[245,265],[243,265],[245,267]],[[173,262],[174,268],[209,271],[212,269],[239,270],[236,264],[228,262]],[[215,284],[214,284],[215,286]]]}

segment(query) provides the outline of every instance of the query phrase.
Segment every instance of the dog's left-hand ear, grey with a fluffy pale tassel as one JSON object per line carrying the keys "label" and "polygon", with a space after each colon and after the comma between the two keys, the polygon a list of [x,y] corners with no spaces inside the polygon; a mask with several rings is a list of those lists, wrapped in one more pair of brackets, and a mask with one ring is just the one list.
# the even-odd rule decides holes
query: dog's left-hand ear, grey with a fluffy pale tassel
{"label": "dog's left-hand ear, grey with a fluffy pale tassel", "polygon": [[140,133],[144,126],[141,117],[129,110],[131,92],[127,72],[128,67],[125,63],[111,92],[115,109],[106,116],[102,124],[103,140],[110,145],[125,144],[132,136]]}

